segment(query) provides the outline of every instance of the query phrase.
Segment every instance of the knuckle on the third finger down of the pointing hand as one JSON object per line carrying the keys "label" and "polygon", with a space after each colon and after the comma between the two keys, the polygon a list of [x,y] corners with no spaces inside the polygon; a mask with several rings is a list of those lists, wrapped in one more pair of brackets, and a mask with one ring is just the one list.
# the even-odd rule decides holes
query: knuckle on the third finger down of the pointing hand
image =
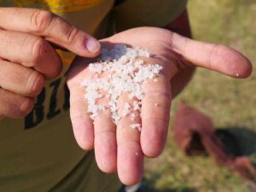
{"label": "knuckle on the third finger down of the pointing hand", "polygon": [[33,70],[26,81],[26,91],[30,96],[37,96],[44,87],[44,76]]}

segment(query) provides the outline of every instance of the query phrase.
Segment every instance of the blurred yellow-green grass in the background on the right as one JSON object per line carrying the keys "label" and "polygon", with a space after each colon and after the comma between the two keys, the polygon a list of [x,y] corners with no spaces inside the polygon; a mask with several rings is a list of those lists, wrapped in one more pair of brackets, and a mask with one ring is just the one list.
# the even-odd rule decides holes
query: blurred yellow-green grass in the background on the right
{"label": "blurred yellow-green grass in the background on the right", "polygon": [[[189,0],[189,16],[195,39],[229,45],[256,62],[255,0]],[[218,128],[256,132],[255,85],[255,72],[249,79],[237,80],[199,69],[173,102],[172,117],[178,103],[185,101],[212,117]],[[172,141],[172,121],[164,153],[146,161],[145,174],[147,192],[256,191],[252,183],[216,166],[207,156],[184,156]]]}

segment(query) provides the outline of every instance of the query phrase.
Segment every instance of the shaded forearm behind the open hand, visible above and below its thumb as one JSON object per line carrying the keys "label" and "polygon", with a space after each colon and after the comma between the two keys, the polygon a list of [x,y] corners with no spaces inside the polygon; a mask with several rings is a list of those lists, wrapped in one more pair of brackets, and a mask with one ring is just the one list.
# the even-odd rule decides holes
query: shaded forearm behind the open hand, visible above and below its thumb
{"label": "shaded forearm behind the open hand, visible above and below its thumb", "polygon": [[[189,25],[189,16],[187,10],[183,12],[176,20],[172,21],[170,24],[164,28],[177,32],[184,37],[191,38],[191,30]],[[195,73],[195,67],[186,66],[177,73],[171,80],[172,84],[172,98],[177,96],[183,88],[189,84],[190,79],[192,79],[193,74]]]}

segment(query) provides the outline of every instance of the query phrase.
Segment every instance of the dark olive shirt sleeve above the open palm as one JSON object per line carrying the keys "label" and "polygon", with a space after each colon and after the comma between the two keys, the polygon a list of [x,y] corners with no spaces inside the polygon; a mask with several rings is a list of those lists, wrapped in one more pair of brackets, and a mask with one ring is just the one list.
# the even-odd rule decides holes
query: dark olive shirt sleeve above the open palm
{"label": "dark olive shirt sleeve above the open palm", "polygon": [[137,26],[163,27],[186,9],[188,0],[125,0],[113,8],[115,26],[126,30]]}

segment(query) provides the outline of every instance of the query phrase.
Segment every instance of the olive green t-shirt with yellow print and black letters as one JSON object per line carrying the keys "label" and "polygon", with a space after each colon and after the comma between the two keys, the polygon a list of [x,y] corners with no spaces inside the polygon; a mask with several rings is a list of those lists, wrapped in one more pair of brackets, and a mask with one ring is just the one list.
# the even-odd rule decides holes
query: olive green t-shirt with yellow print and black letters
{"label": "olive green t-shirt with yellow print and black letters", "polygon": [[[113,34],[115,27],[125,30],[166,26],[183,12],[186,3],[187,0],[0,0],[2,7],[49,10],[96,38]],[[120,187],[116,174],[99,171],[93,151],[83,151],[74,140],[65,84],[65,72],[74,55],[59,53],[64,70],[45,84],[32,113],[25,119],[0,121],[0,192],[115,192]]]}

